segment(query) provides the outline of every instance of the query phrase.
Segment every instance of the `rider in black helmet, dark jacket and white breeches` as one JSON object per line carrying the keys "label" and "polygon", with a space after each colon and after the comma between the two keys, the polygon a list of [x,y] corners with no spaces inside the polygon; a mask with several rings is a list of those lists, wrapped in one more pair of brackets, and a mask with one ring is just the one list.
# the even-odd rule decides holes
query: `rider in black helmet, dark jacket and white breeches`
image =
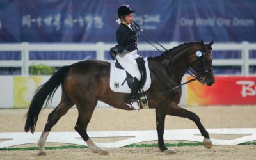
{"label": "rider in black helmet, dark jacket and white breeches", "polygon": [[137,54],[137,31],[138,28],[132,24],[133,13],[135,11],[129,5],[122,5],[118,8],[118,24],[119,28],[116,30],[116,40],[118,42],[118,54],[116,59],[120,65],[133,77],[131,84],[131,104],[134,109],[139,110],[140,106],[137,100],[138,89],[140,86],[141,74],[138,68],[136,58],[140,57]]}

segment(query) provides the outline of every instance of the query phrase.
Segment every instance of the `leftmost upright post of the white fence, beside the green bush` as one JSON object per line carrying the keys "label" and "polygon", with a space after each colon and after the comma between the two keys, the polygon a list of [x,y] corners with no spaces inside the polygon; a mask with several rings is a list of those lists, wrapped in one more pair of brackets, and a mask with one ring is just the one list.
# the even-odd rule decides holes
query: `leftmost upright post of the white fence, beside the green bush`
{"label": "leftmost upright post of the white fence, beside the green bush", "polygon": [[22,42],[21,43],[21,55],[22,55],[22,67],[21,73],[22,75],[29,75],[29,43]]}

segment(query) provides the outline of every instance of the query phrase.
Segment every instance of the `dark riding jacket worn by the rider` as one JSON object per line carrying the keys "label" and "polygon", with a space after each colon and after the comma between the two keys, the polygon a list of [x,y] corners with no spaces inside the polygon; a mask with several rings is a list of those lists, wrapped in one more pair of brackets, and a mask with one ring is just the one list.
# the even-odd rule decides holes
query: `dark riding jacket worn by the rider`
{"label": "dark riding jacket worn by the rider", "polygon": [[138,40],[137,31],[132,24],[131,27],[134,31],[132,31],[132,29],[125,24],[121,23],[119,28],[116,30],[116,40],[118,42],[119,53],[122,53],[124,49],[129,52],[138,49],[136,44]]}

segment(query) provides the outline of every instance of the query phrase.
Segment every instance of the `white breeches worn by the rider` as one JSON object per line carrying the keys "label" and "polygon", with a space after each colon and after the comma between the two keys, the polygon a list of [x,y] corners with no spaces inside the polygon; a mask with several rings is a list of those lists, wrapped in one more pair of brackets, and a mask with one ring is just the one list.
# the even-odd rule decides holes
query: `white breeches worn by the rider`
{"label": "white breeches worn by the rider", "polygon": [[137,49],[127,54],[117,54],[116,59],[119,61],[120,65],[131,74],[132,77],[136,77],[139,81],[141,78],[140,70],[138,68],[136,58],[140,57],[137,54]]}

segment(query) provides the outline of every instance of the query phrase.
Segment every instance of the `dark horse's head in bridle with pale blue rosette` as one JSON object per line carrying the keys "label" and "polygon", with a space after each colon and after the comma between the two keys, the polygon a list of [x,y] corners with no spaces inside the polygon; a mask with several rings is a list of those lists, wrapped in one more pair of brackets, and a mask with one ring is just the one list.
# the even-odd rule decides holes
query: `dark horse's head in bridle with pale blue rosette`
{"label": "dark horse's head in bridle with pale blue rosette", "polygon": [[202,84],[207,84],[211,86],[215,83],[214,75],[212,72],[212,44],[213,40],[209,44],[204,44],[202,40],[200,42],[200,47],[195,56],[192,56],[193,61],[191,61],[191,67],[198,74],[198,81]]}

